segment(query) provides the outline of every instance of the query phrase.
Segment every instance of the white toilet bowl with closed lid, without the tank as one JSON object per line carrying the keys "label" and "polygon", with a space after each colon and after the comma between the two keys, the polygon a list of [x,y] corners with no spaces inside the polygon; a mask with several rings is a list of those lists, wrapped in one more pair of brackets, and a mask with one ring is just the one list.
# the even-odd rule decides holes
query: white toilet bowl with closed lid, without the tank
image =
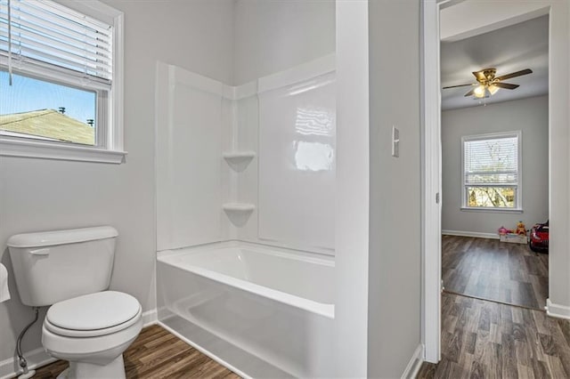
{"label": "white toilet bowl with closed lid, without the tank", "polygon": [[125,378],[123,352],[142,328],[141,304],[130,294],[103,291],[50,307],[42,344],[51,356],[69,361],[58,378]]}

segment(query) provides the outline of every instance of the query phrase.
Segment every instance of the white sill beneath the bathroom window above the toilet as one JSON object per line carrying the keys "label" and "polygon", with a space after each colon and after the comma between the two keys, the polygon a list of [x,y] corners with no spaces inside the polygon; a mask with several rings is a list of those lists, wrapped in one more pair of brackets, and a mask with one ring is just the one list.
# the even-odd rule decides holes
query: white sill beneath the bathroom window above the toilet
{"label": "white sill beneath the bathroom window above the toilet", "polygon": [[46,141],[18,141],[0,138],[0,156],[97,162],[119,165],[126,151],[97,149]]}

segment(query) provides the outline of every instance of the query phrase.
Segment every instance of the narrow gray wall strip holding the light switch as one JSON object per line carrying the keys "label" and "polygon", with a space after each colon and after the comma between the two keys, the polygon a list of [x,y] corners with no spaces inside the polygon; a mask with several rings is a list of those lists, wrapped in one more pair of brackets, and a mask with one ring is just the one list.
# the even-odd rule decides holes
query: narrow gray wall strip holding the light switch
{"label": "narrow gray wall strip holding the light switch", "polygon": [[[368,377],[400,377],[421,324],[419,1],[371,1]],[[400,157],[391,156],[392,125]]]}

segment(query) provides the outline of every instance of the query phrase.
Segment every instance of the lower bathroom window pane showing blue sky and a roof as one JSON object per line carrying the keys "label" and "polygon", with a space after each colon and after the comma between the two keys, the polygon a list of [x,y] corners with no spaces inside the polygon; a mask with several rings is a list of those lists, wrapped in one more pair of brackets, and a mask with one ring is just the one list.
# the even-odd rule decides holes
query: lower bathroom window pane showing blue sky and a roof
{"label": "lower bathroom window pane showing blue sky and a roof", "polygon": [[95,144],[97,93],[0,71],[0,133]]}

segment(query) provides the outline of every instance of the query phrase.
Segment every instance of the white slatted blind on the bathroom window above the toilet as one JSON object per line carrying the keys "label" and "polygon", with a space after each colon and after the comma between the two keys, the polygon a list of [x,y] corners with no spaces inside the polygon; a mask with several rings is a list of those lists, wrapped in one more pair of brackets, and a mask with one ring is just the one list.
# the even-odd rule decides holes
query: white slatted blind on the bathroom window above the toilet
{"label": "white slatted blind on the bathroom window above the toilet", "polygon": [[50,0],[0,0],[0,63],[110,88],[113,27]]}

